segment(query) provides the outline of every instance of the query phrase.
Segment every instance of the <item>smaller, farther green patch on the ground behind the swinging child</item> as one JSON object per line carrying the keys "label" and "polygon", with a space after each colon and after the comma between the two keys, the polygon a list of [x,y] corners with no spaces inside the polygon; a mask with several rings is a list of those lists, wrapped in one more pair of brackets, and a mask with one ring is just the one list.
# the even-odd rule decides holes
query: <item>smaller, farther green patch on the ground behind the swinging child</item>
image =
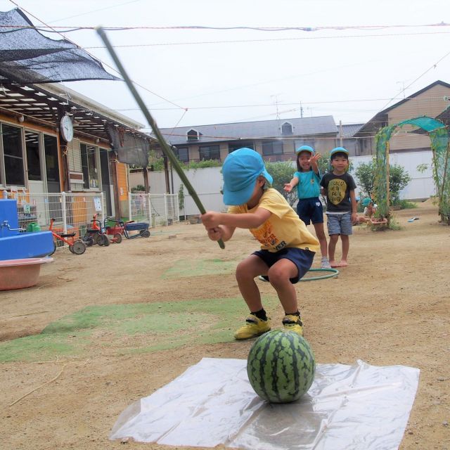
{"label": "smaller, farther green patch on the ground behind the swinging child", "polygon": [[181,278],[186,276],[203,276],[217,274],[234,274],[236,261],[223,261],[222,259],[198,259],[186,261],[180,259],[162,274],[163,279]]}

